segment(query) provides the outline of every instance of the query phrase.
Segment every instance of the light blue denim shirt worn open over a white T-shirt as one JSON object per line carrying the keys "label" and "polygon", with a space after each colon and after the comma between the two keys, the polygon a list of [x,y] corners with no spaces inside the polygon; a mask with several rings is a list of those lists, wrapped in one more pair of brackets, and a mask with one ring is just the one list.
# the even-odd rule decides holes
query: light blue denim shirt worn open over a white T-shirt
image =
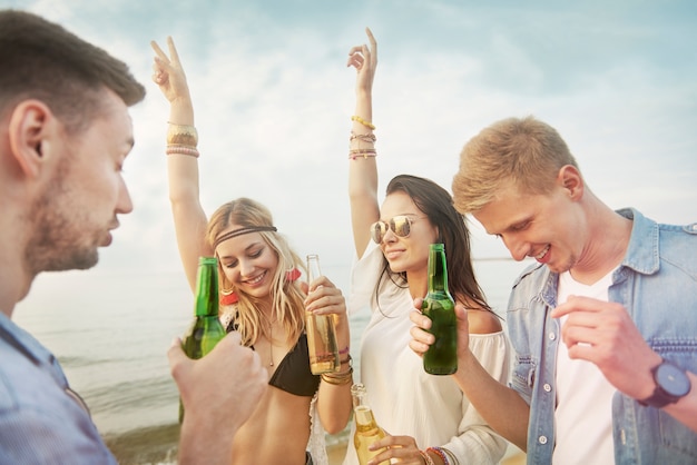
{"label": "light blue denim shirt worn open over a white T-shirt", "polygon": [[[609,300],[627,308],[656,353],[697,373],[697,224],[659,225],[634,209],[618,212],[634,225]],[[552,462],[560,325],[549,314],[558,281],[558,274],[536,264],[513,285],[508,306],[516,357],[510,386],[530,405],[529,464]],[[612,398],[612,432],[616,464],[697,463],[697,433],[619,392]]]}

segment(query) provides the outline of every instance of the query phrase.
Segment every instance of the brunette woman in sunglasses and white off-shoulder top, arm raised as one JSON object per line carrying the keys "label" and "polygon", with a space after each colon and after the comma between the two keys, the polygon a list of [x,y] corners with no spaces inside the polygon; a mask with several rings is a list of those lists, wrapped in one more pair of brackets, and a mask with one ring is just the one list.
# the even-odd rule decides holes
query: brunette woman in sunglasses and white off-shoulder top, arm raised
{"label": "brunette woman in sunglasses and white off-shoulder top, arm raised", "polygon": [[[508,344],[500,319],[474,278],[469,231],[450,194],[431,180],[401,175],[377,204],[372,87],[377,47],[353,47],[356,108],[348,152],[348,195],[357,261],[352,270],[350,310],[370,307],[361,345],[361,380],[369,405],[387,437],[373,461],[406,464],[495,464],[507,442],[470,405],[452,376],[433,376],[410,349],[413,300],[428,288],[429,246],[443,243],[450,294],[469,308],[470,347],[501,383],[507,380]],[[386,463],[386,462],[385,462]],[[357,464],[348,447],[346,465]]]}

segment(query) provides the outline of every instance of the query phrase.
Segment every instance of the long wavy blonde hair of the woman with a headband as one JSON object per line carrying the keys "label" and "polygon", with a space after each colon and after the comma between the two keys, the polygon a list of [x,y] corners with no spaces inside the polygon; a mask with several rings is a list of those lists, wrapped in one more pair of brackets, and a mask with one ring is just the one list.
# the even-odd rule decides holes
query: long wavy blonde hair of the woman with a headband
{"label": "long wavy blonde hair of the woman with a headband", "polygon": [[[242,228],[273,227],[271,211],[262,204],[249,198],[238,198],[220,206],[208,221],[206,240],[214,245],[223,231],[230,225]],[[286,279],[286,271],[294,268],[305,269],[300,256],[291,249],[285,237],[274,230],[261,230],[258,234],[272,248],[278,258],[278,266],[272,278],[272,306],[276,318],[283,323],[287,340],[293,343],[298,339],[305,329],[305,293],[297,283]],[[217,253],[216,253],[217,254]],[[220,289],[232,291],[233,284],[227,280],[223,268],[219,267]],[[262,321],[262,314],[257,309],[261,304],[258,298],[249,296],[240,290],[235,290],[238,296],[237,315],[235,323],[242,335],[244,345],[253,345],[261,335],[271,340],[268,324]]]}

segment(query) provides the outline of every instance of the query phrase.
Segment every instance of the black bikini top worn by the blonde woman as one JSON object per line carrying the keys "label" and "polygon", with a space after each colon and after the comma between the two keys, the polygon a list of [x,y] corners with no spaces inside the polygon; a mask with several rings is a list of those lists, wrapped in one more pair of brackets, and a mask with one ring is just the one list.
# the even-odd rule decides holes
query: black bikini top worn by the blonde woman
{"label": "black bikini top worn by the blonde woman", "polygon": [[[227,325],[227,332],[237,330],[238,326],[233,319]],[[254,349],[254,346],[251,348]],[[310,369],[307,335],[303,333],[283,357],[268,384],[296,396],[312,397],[320,388],[320,375],[313,375]]]}

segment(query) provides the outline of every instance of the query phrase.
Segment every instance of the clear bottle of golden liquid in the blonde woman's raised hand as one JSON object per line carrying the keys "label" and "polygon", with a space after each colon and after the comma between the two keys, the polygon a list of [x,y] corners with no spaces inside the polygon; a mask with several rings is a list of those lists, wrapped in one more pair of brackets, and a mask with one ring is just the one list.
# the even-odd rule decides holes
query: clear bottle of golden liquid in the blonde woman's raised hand
{"label": "clear bottle of golden liquid in the blonde woman's raised hand", "polygon": [[[322,276],[320,257],[307,256],[307,284]],[[305,332],[307,333],[307,352],[310,353],[310,369],[313,375],[333,373],[341,369],[338,346],[334,315],[314,315],[305,313]]]}

